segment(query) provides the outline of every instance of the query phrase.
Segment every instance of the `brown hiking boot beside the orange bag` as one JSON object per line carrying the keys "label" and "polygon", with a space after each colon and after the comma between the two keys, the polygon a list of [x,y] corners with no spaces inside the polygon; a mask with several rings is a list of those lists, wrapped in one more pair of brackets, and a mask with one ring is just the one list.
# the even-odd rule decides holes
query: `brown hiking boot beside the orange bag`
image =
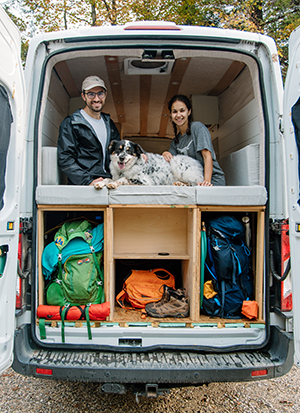
{"label": "brown hiking boot beside the orange bag", "polygon": [[164,293],[160,301],[148,303],[145,307],[151,317],[187,317],[189,315],[189,303],[185,289],[173,290],[164,285]]}

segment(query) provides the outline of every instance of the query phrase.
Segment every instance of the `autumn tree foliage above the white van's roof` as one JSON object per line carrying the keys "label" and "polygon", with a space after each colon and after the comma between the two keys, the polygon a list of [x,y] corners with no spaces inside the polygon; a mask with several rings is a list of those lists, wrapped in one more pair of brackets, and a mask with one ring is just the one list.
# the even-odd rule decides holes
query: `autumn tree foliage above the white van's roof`
{"label": "autumn tree foliage above the white van's roof", "polygon": [[[16,4],[22,18],[14,13]],[[36,31],[124,24],[132,20],[165,20],[259,32],[276,41],[283,74],[288,38],[300,25],[300,0],[6,0],[4,7],[25,36]],[[22,58],[27,43],[24,40]]]}

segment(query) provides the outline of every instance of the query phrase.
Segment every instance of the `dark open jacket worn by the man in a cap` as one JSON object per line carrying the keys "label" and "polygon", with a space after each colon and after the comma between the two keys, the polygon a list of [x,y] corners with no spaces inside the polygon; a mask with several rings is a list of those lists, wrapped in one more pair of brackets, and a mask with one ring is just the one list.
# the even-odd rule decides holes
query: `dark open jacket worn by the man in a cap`
{"label": "dark open jacket worn by the man in a cap", "polygon": [[107,148],[112,140],[120,140],[120,135],[108,114],[101,113],[101,117],[107,130],[105,165],[102,145],[92,125],[80,113],[80,109],[67,116],[60,125],[57,161],[71,185],[89,185],[100,176],[111,176]]}

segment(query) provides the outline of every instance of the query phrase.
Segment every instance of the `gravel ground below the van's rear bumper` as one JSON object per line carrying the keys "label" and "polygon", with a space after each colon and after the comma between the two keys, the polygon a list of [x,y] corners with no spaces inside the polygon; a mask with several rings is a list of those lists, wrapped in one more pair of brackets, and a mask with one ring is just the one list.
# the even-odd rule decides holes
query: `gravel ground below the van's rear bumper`
{"label": "gravel ground below the van's rear bumper", "polygon": [[171,390],[147,399],[100,394],[94,383],[71,383],[24,377],[7,370],[0,376],[0,412],[159,413],[159,412],[300,412],[300,369],[285,376],[249,383],[211,383]]}

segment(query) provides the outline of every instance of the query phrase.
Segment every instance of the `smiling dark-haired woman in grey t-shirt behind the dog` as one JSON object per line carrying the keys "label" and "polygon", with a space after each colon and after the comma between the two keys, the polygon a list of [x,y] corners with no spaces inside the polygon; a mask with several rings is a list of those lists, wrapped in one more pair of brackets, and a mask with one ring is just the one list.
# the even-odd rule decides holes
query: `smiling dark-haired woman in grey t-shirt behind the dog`
{"label": "smiling dark-haired woman in grey t-shirt behind the dog", "polygon": [[201,122],[192,122],[192,104],[184,95],[174,96],[168,103],[175,132],[169,151],[163,153],[167,162],[175,155],[197,159],[204,169],[200,186],[225,185],[225,175],[217,162],[211,137]]}

